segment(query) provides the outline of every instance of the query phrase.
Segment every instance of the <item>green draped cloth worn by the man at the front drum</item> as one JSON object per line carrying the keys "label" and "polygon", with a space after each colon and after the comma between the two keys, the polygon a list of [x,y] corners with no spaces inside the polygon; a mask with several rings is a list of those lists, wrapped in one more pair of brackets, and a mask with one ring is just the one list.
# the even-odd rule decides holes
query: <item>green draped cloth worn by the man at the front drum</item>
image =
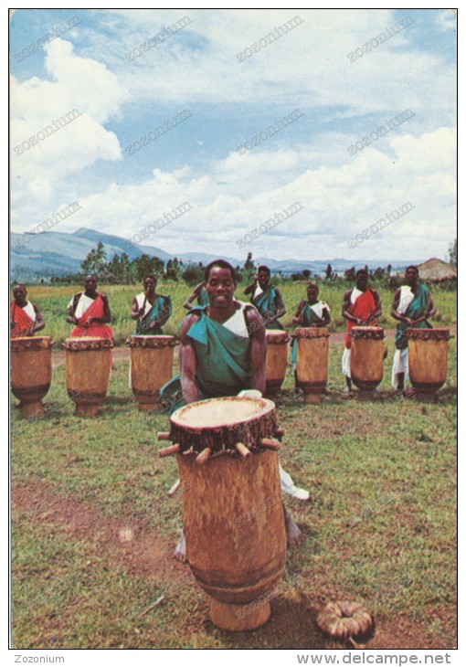
{"label": "green draped cloth worn by the man at the front drum", "polygon": [[[239,338],[207,317],[207,306],[196,306],[191,312],[200,314],[186,334],[193,341],[196,351],[196,386],[199,400],[222,396],[236,396],[241,389],[249,388],[250,355],[249,338]],[[181,388],[179,376],[161,389],[161,398],[169,400]],[[185,405],[177,402],[173,408]],[[170,414],[175,410],[171,410]]]}

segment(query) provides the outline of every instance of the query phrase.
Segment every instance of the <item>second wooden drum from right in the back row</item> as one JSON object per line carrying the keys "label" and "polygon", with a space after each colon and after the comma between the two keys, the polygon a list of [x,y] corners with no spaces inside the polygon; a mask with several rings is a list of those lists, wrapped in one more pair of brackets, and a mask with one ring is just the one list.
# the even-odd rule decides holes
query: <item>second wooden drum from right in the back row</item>
{"label": "second wooden drum from right in the back row", "polygon": [[359,389],[374,391],[384,377],[384,329],[354,326],[351,337],[351,379]]}

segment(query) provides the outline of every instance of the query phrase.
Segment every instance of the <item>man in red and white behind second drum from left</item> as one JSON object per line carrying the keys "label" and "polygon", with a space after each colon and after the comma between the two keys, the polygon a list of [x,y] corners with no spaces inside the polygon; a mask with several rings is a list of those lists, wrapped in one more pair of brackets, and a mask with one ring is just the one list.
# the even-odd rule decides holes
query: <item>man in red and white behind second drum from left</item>
{"label": "man in red and white behind second drum from left", "polygon": [[68,304],[67,322],[75,324],[71,337],[95,336],[112,338],[109,300],[97,291],[97,276],[91,274],[84,281],[84,291],[79,291]]}

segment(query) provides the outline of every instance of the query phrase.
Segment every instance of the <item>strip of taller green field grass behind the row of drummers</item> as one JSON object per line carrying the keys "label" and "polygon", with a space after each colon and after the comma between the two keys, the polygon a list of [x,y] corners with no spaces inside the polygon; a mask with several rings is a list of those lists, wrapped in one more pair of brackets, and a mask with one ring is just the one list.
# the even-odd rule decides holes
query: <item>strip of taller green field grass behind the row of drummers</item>
{"label": "strip of taller green field grass behind the row of drummers", "polygon": [[[348,288],[349,285],[343,286],[342,284],[334,283],[321,286],[320,298],[328,303],[332,312],[333,323],[331,331],[333,332],[344,330],[344,320],[341,316],[341,311],[344,290]],[[130,319],[130,304],[134,294],[139,293],[142,289],[142,287],[136,285],[104,285],[101,287],[101,291],[104,291],[109,296],[112,314],[111,326],[117,344],[123,344],[127,337],[132,334],[134,324]],[[299,302],[306,296],[306,283],[290,282],[281,285],[280,289],[288,309],[281,322],[285,325],[285,328],[290,329],[291,318]],[[244,287],[238,287],[238,299],[242,298],[243,290]],[[65,318],[68,312],[69,301],[77,291],[82,291],[82,286],[31,286],[29,288],[28,298],[32,302],[37,303],[47,324],[46,329],[41,334],[51,335],[56,343],[63,343],[69,336],[71,326],[65,322]],[[185,316],[186,311],[183,308],[183,303],[191,293],[191,289],[185,284],[161,282],[158,285],[157,291],[162,294],[169,294],[172,297],[174,314],[164,326],[164,333],[175,335],[178,332],[179,324]],[[393,302],[393,292],[381,289],[379,290],[379,294],[386,315],[383,325],[392,328],[397,324],[388,314]],[[456,291],[437,291],[434,288],[432,294],[434,303],[439,310],[433,320],[435,325],[448,326],[456,323]],[[246,297],[244,297],[244,301],[247,301]]]}

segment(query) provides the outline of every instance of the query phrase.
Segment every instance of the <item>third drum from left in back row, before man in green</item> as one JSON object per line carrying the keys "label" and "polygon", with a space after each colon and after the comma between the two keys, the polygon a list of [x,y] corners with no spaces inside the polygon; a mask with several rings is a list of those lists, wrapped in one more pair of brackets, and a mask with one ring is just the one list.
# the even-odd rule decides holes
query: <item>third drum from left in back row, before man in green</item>
{"label": "third drum from left in back row, before man in green", "polygon": [[160,389],[172,379],[174,336],[131,336],[132,393],[140,410],[152,410]]}

